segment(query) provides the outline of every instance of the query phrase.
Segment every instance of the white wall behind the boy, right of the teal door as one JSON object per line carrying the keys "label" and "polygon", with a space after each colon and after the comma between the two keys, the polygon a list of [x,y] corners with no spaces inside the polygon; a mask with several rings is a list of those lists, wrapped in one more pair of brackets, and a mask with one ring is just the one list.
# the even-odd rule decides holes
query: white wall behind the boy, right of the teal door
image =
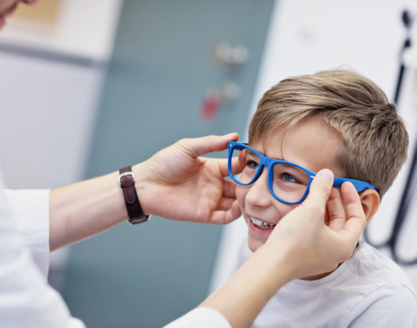
{"label": "white wall behind the boy, right of the teal door", "polygon": [[[254,92],[252,114],[263,93],[281,79],[341,65],[349,65],[375,81],[393,100],[399,69],[398,54],[405,36],[400,17],[406,8],[417,14],[415,0],[277,1]],[[417,42],[417,36],[414,40]],[[410,57],[409,61],[413,59]],[[405,80],[399,111],[406,121],[413,146],[417,132],[417,78],[414,72],[409,72]],[[384,196],[382,206],[370,225],[370,237],[375,242],[386,240],[391,232],[407,171],[406,164]],[[409,221],[409,224],[415,221]],[[245,239],[240,233],[243,231],[242,223],[235,224],[238,225],[239,228],[231,226],[224,229],[218,263],[229,265],[224,265],[222,269],[220,265],[215,268],[212,290],[231,272],[236,258],[231,241],[239,235],[240,240]],[[416,225],[414,228],[417,229]],[[415,238],[408,238],[404,248],[408,256],[417,256]],[[404,270],[417,288],[417,266]]]}

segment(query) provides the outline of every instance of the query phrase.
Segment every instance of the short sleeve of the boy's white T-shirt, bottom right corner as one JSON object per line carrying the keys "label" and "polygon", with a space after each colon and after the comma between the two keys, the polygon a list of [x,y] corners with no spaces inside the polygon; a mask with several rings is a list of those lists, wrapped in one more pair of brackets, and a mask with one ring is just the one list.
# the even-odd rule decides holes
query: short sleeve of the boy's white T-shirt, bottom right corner
{"label": "short sleeve of the boy's white T-shirt, bottom right corner", "polygon": [[347,315],[348,328],[416,328],[417,298],[401,283],[390,283],[375,290]]}

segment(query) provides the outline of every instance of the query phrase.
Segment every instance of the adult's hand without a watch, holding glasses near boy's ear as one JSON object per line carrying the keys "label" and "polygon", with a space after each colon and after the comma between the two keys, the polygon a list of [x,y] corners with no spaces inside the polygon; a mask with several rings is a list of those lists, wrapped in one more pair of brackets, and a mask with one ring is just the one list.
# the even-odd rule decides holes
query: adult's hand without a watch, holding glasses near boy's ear
{"label": "adult's hand without a watch, holding glasses near boy's ear", "polygon": [[293,279],[335,270],[352,256],[366,227],[352,183],[343,183],[339,192],[333,179],[332,171],[320,171],[306,200],[279,221],[264,245],[293,259]]}

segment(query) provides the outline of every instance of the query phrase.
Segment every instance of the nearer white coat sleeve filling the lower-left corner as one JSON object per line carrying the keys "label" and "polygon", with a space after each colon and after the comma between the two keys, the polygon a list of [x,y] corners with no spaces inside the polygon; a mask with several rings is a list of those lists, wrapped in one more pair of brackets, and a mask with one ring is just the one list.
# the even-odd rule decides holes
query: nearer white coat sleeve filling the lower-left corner
{"label": "nearer white coat sleeve filling the lower-left corner", "polygon": [[0,177],[0,327],[85,328],[33,262],[1,185]]}

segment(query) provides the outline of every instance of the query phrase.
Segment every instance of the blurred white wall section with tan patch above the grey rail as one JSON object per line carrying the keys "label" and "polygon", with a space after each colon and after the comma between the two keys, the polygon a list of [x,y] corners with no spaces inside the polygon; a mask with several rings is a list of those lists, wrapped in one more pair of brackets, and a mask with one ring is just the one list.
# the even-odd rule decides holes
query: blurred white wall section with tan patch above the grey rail
{"label": "blurred white wall section with tan patch above the grey rail", "polygon": [[[0,51],[25,47],[39,52],[108,61],[122,0],[39,0],[20,3],[0,33]],[[19,49],[18,49],[19,50]]]}

